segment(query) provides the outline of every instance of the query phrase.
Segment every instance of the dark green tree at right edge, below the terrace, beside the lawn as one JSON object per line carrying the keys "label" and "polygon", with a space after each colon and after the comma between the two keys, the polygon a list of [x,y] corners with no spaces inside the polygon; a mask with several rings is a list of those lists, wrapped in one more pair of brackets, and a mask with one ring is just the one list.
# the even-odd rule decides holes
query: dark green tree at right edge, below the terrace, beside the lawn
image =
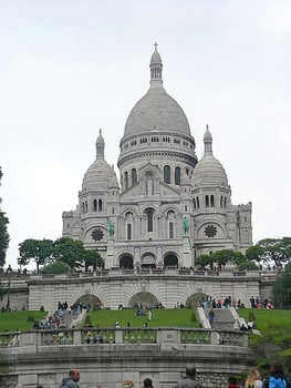
{"label": "dark green tree at right edge, below the terrace, beside the lawn", "polygon": [[273,285],[272,297],[276,307],[291,307],[291,263],[289,263],[282,273],[277,276]]}

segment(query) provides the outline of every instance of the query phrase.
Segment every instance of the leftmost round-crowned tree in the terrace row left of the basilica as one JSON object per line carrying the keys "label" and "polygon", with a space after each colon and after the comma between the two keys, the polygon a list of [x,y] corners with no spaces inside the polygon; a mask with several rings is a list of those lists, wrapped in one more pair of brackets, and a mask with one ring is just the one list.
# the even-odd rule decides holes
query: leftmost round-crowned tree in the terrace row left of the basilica
{"label": "leftmost round-crowned tree in the terrace row left of the basilica", "polygon": [[37,272],[39,274],[40,266],[45,265],[52,257],[53,242],[51,239],[33,239],[28,238],[19,244],[18,258],[19,265],[28,265],[32,259],[37,264]]}

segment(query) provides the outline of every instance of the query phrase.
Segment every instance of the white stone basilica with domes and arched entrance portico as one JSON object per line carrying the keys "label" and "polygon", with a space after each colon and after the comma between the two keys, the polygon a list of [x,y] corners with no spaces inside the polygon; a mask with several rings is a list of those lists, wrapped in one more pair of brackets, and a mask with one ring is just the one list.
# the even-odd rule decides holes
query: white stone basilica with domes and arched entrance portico
{"label": "white stone basilica with domes and arched entrance portico", "polygon": [[97,249],[105,268],[190,267],[199,254],[245,253],[252,244],[251,203],[232,205],[208,126],[198,161],[188,120],[163,86],[157,45],[149,68],[150,86],[119,142],[121,185],[100,132],[79,205],[63,213],[63,236]]}

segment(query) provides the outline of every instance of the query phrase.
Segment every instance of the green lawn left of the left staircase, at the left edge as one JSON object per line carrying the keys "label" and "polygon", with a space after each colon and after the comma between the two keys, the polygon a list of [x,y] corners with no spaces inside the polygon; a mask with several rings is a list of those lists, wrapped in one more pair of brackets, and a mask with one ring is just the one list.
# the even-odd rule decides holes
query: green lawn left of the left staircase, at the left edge
{"label": "green lawn left of the left staircase, at the left edge", "polygon": [[3,331],[24,331],[30,330],[33,326],[33,321],[29,321],[29,317],[33,317],[34,320],[40,320],[46,316],[45,312],[13,312],[13,313],[0,313],[0,333]]}

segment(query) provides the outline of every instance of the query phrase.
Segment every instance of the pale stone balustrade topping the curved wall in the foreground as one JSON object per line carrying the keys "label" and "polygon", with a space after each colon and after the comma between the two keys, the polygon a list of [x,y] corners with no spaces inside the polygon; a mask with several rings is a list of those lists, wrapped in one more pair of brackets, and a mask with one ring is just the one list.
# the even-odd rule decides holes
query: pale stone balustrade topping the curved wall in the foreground
{"label": "pale stone balustrade topping the curved wall in the foreground", "polygon": [[248,347],[248,334],[237,330],[193,328],[86,328],[59,330],[31,330],[0,334],[2,347],[41,347],[63,345],[106,346],[112,344],[153,344],[184,348],[189,345],[230,345]]}

